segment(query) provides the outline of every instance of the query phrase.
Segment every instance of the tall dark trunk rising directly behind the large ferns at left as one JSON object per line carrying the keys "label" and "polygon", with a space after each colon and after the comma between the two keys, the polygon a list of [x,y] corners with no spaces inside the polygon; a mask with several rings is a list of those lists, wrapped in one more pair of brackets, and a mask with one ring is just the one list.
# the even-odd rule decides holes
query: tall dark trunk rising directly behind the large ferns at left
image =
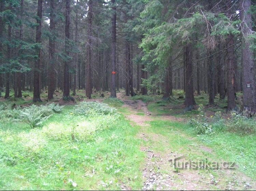
{"label": "tall dark trunk rising directly behind the large ferns at left", "polygon": [[[43,0],[38,0],[37,7],[37,29],[35,35],[35,42],[41,44],[41,29],[42,29],[42,9]],[[41,102],[40,98],[40,63],[41,63],[41,49],[37,49],[38,58],[34,64],[34,91],[33,91],[33,102]]]}

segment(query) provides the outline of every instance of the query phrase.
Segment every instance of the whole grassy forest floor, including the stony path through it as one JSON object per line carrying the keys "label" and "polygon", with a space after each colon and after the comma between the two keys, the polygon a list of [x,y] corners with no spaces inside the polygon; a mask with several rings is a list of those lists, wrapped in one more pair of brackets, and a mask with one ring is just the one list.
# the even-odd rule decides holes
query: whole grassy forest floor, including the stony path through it
{"label": "whole grassy forest floor, including the stony path through it", "polygon": [[[41,104],[45,104],[47,92],[42,93]],[[184,99],[179,99],[182,93],[174,93],[171,100],[163,101],[161,95],[128,97],[120,91],[118,99],[111,99],[109,92],[94,92],[90,101],[107,103],[121,115],[112,128],[95,133],[91,127],[99,122],[109,126],[104,118],[77,116],[74,103],[66,105],[57,98],[55,103],[66,105],[63,112],[40,128],[1,122],[0,189],[255,190],[256,136],[218,131],[197,135],[188,122],[199,112],[184,113]],[[24,99],[0,102],[31,105],[31,92],[25,95]],[[55,96],[61,97],[61,92]],[[83,91],[77,91],[75,99],[77,103],[88,101]],[[216,99],[208,107],[207,95],[198,95],[196,102],[205,106],[211,119],[216,111],[225,109],[226,100]],[[91,135],[80,141],[84,129]],[[76,133],[77,141],[72,141],[70,131]],[[223,167],[224,161],[234,162],[234,169],[226,169],[227,163]],[[190,168],[191,162],[198,168]],[[213,168],[215,163],[219,168]]]}

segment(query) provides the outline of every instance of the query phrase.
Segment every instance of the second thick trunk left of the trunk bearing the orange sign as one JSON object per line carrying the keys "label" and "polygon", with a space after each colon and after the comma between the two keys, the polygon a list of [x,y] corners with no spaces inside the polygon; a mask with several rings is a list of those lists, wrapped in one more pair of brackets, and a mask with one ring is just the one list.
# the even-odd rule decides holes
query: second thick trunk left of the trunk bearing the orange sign
{"label": "second thick trunk left of the trunk bearing the orange sign", "polygon": [[[70,32],[69,32],[69,26],[70,26],[70,0],[66,0],[66,25],[65,25],[65,53],[67,57],[70,55]],[[70,60],[69,58],[66,58],[64,62],[64,79],[63,79],[63,97],[69,97],[70,96],[70,90],[69,90],[69,66],[70,66]]]}

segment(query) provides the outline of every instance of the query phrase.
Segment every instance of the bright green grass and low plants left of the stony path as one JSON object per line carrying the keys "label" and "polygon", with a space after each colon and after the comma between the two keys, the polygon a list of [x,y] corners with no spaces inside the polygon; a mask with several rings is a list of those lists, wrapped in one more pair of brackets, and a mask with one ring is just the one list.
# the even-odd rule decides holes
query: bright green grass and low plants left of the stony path
{"label": "bright green grass and low plants left of the stony path", "polygon": [[1,122],[1,190],[120,190],[122,184],[141,189],[139,127],[123,116],[105,125],[104,118],[77,116],[72,109],[65,106],[41,128]]}

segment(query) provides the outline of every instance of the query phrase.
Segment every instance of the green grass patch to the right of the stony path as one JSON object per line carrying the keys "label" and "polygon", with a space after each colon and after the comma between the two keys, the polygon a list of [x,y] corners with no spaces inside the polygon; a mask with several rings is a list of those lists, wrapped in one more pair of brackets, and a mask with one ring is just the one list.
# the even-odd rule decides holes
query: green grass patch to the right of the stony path
{"label": "green grass patch to the right of the stony path", "polygon": [[[238,134],[215,131],[210,135],[196,135],[196,131],[189,124],[155,120],[150,122],[152,131],[157,134],[168,135],[170,145],[175,151],[187,153],[189,145],[205,145],[212,149],[214,155],[204,152],[204,156],[222,161],[234,161],[238,169],[256,180],[256,136],[239,136]],[[184,136],[180,136],[183,134]],[[193,139],[190,139],[193,138]],[[164,147],[159,145],[159,150]],[[189,152],[189,159],[196,159],[196,152]]]}

